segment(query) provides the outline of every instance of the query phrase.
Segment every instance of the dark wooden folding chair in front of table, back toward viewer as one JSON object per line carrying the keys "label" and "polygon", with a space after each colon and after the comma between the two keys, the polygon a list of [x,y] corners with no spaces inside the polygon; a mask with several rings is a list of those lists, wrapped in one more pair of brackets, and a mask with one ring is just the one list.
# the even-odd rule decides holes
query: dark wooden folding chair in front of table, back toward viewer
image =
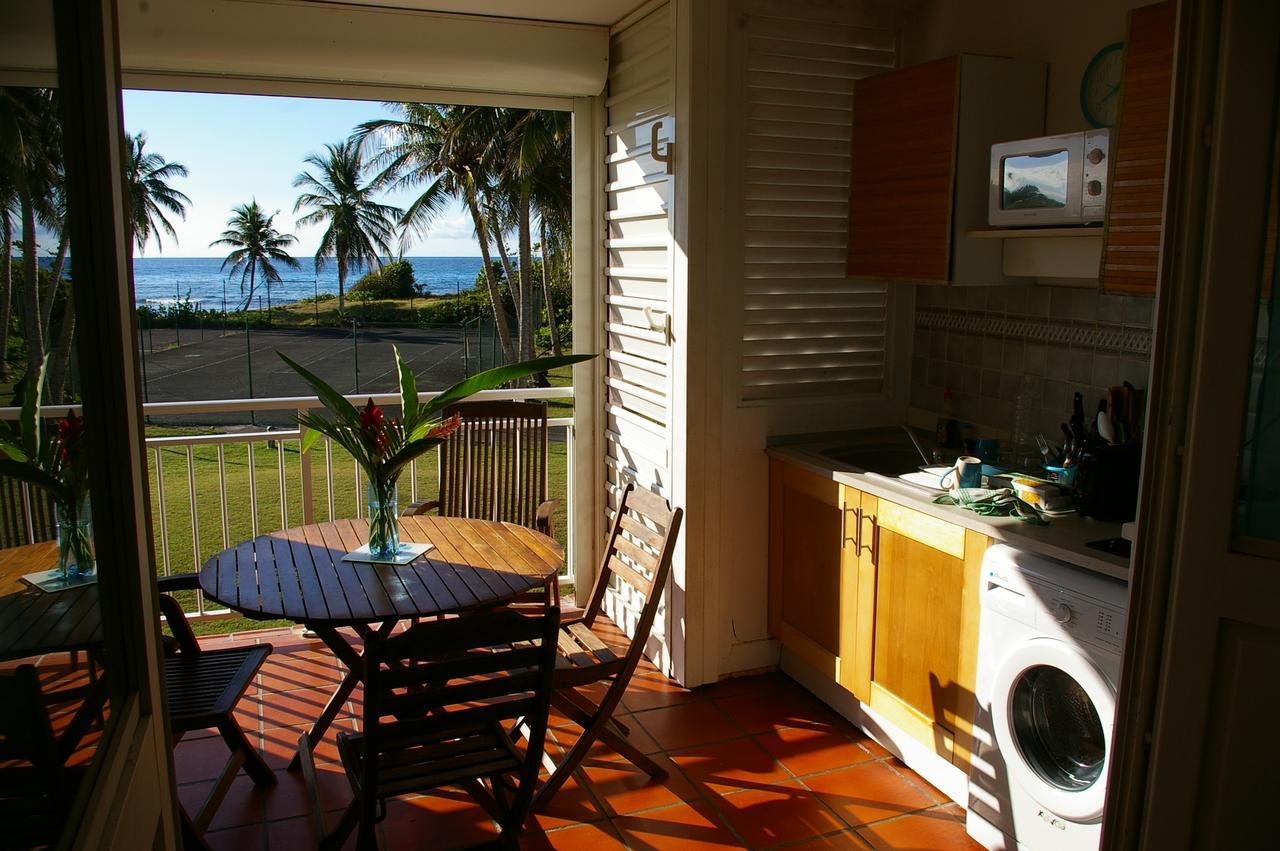
{"label": "dark wooden folding chair in front of table, back toward viewer", "polygon": [[[370,636],[361,732],[338,733],[355,800],[332,833],[310,738],[298,740],[320,847],[342,846],[358,824],[357,847],[375,848],[388,797],[461,786],[502,825],[486,847],[515,848],[541,765],[558,623],[556,607],[500,609]],[[524,752],[506,729],[517,718],[530,731]]]}

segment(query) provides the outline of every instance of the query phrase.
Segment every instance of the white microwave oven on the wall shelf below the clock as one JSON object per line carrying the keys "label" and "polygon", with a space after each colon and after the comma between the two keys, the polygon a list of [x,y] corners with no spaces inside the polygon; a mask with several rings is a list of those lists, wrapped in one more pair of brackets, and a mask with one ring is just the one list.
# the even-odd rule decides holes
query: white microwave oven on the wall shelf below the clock
{"label": "white microwave oven on the wall shelf below the clock", "polygon": [[1103,128],[992,145],[987,223],[1028,228],[1102,221],[1108,141]]}

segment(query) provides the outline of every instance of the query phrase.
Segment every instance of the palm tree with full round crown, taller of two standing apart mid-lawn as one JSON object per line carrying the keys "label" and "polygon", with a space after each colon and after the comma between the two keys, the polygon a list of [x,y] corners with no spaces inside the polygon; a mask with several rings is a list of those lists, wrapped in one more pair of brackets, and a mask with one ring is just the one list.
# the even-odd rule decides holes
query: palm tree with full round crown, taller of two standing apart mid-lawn
{"label": "palm tree with full round crown, taller of two standing apart mid-lawn", "polygon": [[326,145],[324,154],[311,154],[303,161],[319,175],[302,171],[293,178],[293,186],[302,189],[293,212],[310,210],[298,219],[300,225],[329,224],[316,250],[316,271],[324,269],[325,257],[337,261],[340,314],[347,274],[357,267],[380,267],[383,257],[393,253],[393,223],[401,210],[374,201],[376,180],[364,182],[365,159],[356,141]]}

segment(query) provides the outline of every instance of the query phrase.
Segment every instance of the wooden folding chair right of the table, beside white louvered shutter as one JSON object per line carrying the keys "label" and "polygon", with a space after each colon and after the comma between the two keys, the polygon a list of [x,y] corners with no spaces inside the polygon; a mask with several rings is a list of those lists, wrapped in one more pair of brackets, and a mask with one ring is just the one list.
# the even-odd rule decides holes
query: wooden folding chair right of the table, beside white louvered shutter
{"label": "wooden folding chair right of the table, beside white louvered shutter", "polygon": [[[600,572],[591,587],[586,609],[579,617],[566,618],[558,636],[559,658],[556,663],[556,691],[552,704],[582,727],[568,754],[547,782],[538,790],[534,809],[545,806],[564,781],[577,769],[591,745],[600,740],[628,759],[636,768],[654,778],[667,772],[626,740],[626,727],[613,719],[631,674],[644,655],[645,642],[658,614],[662,590],[671,573],[671,557],[680,535],[684,512],[653,491],[627,485],[622,491],[618,512],[613,518],[609,541],[600,562]],[[625,582],[645,600],[636,622],[631,645],[622,656],[593,632],[591,627],[604,604],[604,594],[613,578]],[[579,688],[594,682],[611,681],[604,697],[596,704]]]}

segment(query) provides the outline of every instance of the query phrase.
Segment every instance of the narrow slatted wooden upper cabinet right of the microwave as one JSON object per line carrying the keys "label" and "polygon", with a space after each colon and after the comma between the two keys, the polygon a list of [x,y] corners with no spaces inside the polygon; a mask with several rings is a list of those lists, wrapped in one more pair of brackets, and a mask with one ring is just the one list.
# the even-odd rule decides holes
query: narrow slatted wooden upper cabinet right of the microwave
{"label": "narrow slatted wooden upper cabinet right of the microwave", "polygon": [[1111,139],[1111,187],[1102,288],[1155,293],[1165,203],[1175,4],[1129,13],[1120,118]]}

